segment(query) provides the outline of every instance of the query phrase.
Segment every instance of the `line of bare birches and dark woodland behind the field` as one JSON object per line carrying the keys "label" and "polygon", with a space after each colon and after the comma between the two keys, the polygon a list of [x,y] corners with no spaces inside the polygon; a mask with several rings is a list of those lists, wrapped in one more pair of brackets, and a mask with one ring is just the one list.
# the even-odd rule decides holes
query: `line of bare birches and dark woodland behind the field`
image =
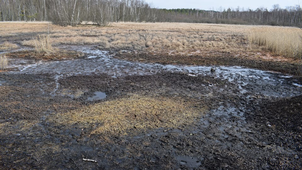
{"label": "line of bare birches and dark woodland behind the field", "polygon": [[281,9],[157,9],[144,0],[0,0],[1,21],[51,21],[58,25],[93,22],[188,22],[302,26],[300,5]]}

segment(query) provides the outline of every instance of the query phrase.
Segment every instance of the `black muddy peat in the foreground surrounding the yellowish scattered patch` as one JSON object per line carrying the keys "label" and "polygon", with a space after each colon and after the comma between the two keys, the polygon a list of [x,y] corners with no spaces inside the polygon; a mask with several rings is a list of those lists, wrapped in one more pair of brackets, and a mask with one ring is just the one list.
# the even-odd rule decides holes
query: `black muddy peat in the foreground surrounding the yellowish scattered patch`
{"label": "black muddy peat in the foreground surrounding the yellowish scattered patch", "polygon": [[[123,77],[78,74],[57,82],[54,77],[0,72],[0,169],[302,168],[301,95],[241,93],[234,83],[214,76],[168,71]],[[88,100],[95,92],[107,97]],[[65,124],[58,118],[133,96],[173,99],[202,111],[175,126],[131,125],[127,133],[91,133],[103,122],[66,117]]]}

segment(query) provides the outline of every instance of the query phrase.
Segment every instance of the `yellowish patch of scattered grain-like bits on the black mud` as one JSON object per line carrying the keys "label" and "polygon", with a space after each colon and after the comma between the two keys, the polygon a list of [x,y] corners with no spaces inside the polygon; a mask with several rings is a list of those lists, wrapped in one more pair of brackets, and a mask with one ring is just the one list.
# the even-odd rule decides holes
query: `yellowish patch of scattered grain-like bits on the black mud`
{"label": "yellowish patch of scattered grain-like bits on the black mud", "polygon": [[52,121],[67,126],[97,126],[91,130],[91,134],[126,134],[133,129],[177,127],[193,121],[202,112],[183,99],[133,95],[58,114]]}

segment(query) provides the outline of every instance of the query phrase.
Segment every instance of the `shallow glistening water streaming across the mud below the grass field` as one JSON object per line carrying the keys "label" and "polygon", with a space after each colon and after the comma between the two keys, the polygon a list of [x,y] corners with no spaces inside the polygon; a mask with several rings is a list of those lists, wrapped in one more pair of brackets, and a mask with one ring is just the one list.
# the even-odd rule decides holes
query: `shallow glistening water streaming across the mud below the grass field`
{"label": "shallow glistening water streaming across the mud below the grass field", "polygon": [[[64,61],[38,61],[12,60],[20,72],[12,74],[55,74],[56,89],[59,87],[58,79],[64,76],[78,74],[100,74],[105,73],[112,77],[128,75],[153,75],[162,71],[182,72],[188,76],[210,75],[219,79],[226,79],[234,83],[241,93],[261,93],[268,96],[287,97],[301,94],[301,86],[298,82],[287,82],[290,76],[248,69],[239,66],[217,66],[216,71],[211,72],[211,66],[182,66],[182,65],[161,65],[150,63],[131,62],[121,59],[114,59],[108,51],[91,50],[88,47],[80,47],[77,50],[87,53],[86,59],[73,59]],[[215,84],[210,84],[215,86]],[[275,88],[271,88],[274,86]],[[248,88],[247,88],[248,87]],[[56,89],[52,92],[55,95]]]}

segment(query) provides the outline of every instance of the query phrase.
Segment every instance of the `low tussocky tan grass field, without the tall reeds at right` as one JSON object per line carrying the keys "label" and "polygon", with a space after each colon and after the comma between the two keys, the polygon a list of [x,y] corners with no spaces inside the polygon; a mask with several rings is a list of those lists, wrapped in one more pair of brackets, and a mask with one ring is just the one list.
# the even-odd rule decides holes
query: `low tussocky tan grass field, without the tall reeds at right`
{"label": "low tussocky tan grass field, without the tall reeds at right", "polygon": [[[48,23],[1,23],[0,36],[40,34]],[[22,29],[16,29],[22,28]],[[106,49],[133,49],[147,51],[236,51],[246,46],[245,36],[252,26],[216,25],[190,23],[112,23],[108,27],[93,25],[60,27],[52,25],[51,43],[96,44]],[[12,30],[10,30],[12,29]],[[22,45],[35,46],[33,40],[22,41]]]}

